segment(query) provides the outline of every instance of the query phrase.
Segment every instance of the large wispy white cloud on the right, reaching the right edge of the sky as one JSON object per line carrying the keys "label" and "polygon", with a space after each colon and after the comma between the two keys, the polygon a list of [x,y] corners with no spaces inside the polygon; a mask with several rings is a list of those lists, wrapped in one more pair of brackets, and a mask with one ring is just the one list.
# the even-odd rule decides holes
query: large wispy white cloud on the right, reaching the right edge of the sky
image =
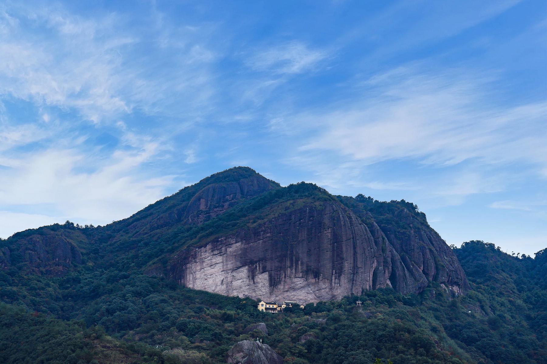
{"label": "large wispy white cloud on the right, reaching the right edge of the sky", "polygon": [[[334,151],[361,165],[416,160],[450,166],[529,163],[547,166],[547,102],[493,105],[490,79],[399,68],[366,80],[348,106],[328,105],[276,120],[272,127],[311,135],[303,153]],[[462,190],[462,189],[459,189]]]}

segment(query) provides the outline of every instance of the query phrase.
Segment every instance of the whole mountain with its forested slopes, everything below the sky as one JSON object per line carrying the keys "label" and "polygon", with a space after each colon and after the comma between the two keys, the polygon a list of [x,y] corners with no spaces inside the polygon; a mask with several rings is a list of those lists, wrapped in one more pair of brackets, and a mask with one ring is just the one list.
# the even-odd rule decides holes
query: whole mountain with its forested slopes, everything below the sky
{"label": "whole mountain with its forested slopes, everything below the sky", "polygon": [[542,364],[546,259],[448,247],[405,200],[232,168],[106,226],[0,240],[0,362],[225,363],[267,345],[293,364]]}

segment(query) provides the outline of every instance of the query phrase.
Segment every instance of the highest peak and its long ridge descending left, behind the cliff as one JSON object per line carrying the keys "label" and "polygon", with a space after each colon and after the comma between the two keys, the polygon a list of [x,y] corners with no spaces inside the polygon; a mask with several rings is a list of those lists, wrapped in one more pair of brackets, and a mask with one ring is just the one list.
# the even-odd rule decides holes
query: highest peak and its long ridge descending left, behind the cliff
{"label": "highest peak and its long ridge descending left, behind the cliff", "polygon": [[[143,242],[149,245],[166,238],[177,240],[173,237],[177,229],[200,225],[241,201],[278,187],[278,183],[250,168],[232,168],[107,226],[74,230],[74,224],[67,222],[18,232],[0,250],[0,266],[26,262],[35,272],[63,275],[81,264],[82,259],[109,266],[120,258],[120,253],[132,255],[144,265],[162,252],[158,249],[156,255],[143,256],[139,251]],[[88,248],[91,251],[84,253]]]}

